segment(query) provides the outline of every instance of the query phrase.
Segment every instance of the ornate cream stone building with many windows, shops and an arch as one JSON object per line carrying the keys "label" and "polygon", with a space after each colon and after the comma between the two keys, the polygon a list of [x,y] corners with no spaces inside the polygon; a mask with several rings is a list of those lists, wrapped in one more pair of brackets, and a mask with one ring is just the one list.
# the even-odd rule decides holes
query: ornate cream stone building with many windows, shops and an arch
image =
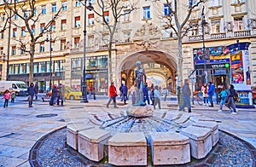
{"label": "ornate cream stone building with many windows, shops and an arch", "polygon": [[[104,1],[108,3],[108,0]],[[175,92],[177,78],[177,36],[161,18],[170,13],[172,1],[165,0],[128,1],[136,5],[136,10],[119,18],[119,24],[113,37],[112,72],[113,79],[119,83],[133,84],[136,61],[140,60],[146,69],[148,82],[160,84]],[[188,1],[179,1],[180,19],[188,10]],[[90,0],[97,10],[96,0]],[[193,2],[193,3],[196,3]],[[202,22],[204,6],[205,24]],[[49,18],[61,8],[61,14],[51,25],[51,31],[40,38],[36,45],[34,56],[34,82],[39,88],[48,89],[49,73],[52,72],[53,83],[65,83],[74,89],[80,89],[83,71],[84,55],[84,6],[74,0],[38,1],[36,14],[41,14],[38,23],[32,26],[35,34],[44,28]],[[125,14],[125,12],[127,14]],[[113,20],[111,10],[102,13],[106,20]],[[0,6],[0,30],[7,18],[4,5]],[[17,40],[27,40],[28,34],[22,27],[19,17],[12,18],[19,27],[10,26],[0,32],[0,78],[2,80],[28,81],[29,55],[20,50]],[[108,92],[108,30],[102,18],[93,10],[86,10],[86,80],[88,86],[93,86],[98,94]],[[189,18],[190,23],[196,23],[183,37],[183,73],[184,78],[194,72],[197,85],[205,79],[218,83],[232,83],[236,76],[232,72],[230,48],[239,43],[244,45],[249,58],[250,85],[256,85],[256,3],[254,0],[207,0],[193,9]],[[21,27],[21,28],[20,28]],[[203,30],[202,31],[202,27]],[[10,33],[9,33],[10,32]],[[202,34],[202,32],[204,32]],[[51,42],[45,39],[51,36]],[[10,39],[10,40],[9,40]],[[237,41],[239,40],[239,41]],[[205,45],[205,49],[203,49]],[[237,50],[236,49],[236,50]],[[227,51],[228,50],[228,51]],[[205,54],[202,52],[205,51]],[[9,54],[8,54],[9,52]],[[49,62],[51,55],[51,68]],[[244,60],[245,61],[245,60]],[[235,62],[235,61],[234,61]],[[9,69],[9,70],[7,70]],[[245,69],[244,69],[245,70]],[[7,72],[9,74],[7,75]],[[206,75],[207,72],[207,75]],[[241,72],[241,69],[239,71]],[[7,78],[8,77],[8,78]],[[191,77],[191,76],[190,76]],[[245,80],[245,75],[242,76]],[[149,84],[150,85],[150,84]]]}

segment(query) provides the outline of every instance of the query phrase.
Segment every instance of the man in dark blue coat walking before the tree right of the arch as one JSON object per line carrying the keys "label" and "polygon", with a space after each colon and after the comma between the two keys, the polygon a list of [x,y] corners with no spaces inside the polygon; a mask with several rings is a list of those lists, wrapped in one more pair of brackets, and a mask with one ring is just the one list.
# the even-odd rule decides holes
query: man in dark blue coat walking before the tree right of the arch
{"label": "man in dark blue coat walking before the tree right of the arch", "polygon": [[183,104],[179,107],[178,111],[183,111],[185,107],[188,107],[188,111],[191,112],[191,90],[189,89],[189,79],[184,80],[183,85]]}

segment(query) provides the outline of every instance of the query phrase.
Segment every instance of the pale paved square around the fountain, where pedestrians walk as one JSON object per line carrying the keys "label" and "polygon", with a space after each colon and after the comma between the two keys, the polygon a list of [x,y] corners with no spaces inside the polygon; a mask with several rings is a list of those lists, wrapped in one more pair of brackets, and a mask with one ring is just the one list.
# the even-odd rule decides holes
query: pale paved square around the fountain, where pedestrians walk
{"label": "pale paved square around the fountain, where pedestrians walk", "polygon": [[[90,121],[92,115],[108,113],[119,114],[125,112],[129,105],[123,106],[119,101],[119,108],[106,107],[108,97],[92,100],[89,103],[79,101],[65,101],[64,107],[50,107],[48,102],[35,101],[29,108],[26,101],[16,101],[7,108],[0,108],[0,166],[30,166],[29,151],[42,136],[52,130],[60,129],[67,122]],[[162,109],[158,112],[177,111],[177,101],[161,101]],[[0,106],[3,102],[0,102]],[[205,107],[194,105],[192,112],[215,118],[219,128],[256,147],[256,110],[239,109],[237,115],[228,110],[217,112],[218,106]]]}

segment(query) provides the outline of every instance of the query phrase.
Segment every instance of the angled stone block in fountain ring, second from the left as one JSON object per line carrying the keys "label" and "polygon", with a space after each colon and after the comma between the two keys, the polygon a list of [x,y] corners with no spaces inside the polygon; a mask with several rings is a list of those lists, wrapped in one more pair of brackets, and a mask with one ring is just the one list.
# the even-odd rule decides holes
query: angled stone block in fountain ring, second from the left
{"label": "angled stone block in fountain ring, second from the left", "polygon": [[104,145],[110,138],[108,131],[90,129],[79,131],[79,153],[92,161],[99,162],[104,158]]}

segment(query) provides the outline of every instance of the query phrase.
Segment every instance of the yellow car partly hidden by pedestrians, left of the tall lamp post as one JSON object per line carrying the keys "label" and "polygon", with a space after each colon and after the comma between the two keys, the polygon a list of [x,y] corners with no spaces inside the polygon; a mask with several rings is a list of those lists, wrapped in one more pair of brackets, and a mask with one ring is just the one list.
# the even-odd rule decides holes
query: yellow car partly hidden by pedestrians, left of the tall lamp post
{"label": "yellow car partly hidden by pedestrians, left of the tall lamp post", "polygon": [[[47,92],[44,97],[42,97],[42,100],[44,101],[45,99],[49,99],[51,96],[51,90],[49,90],[49,92]],[[70,87],[65,87],[65,95],[64,95],[65,99],[69,99],[69,100],[80,100],[82,99],[82,92],[76,90],[76,89],[72,89]]]}

